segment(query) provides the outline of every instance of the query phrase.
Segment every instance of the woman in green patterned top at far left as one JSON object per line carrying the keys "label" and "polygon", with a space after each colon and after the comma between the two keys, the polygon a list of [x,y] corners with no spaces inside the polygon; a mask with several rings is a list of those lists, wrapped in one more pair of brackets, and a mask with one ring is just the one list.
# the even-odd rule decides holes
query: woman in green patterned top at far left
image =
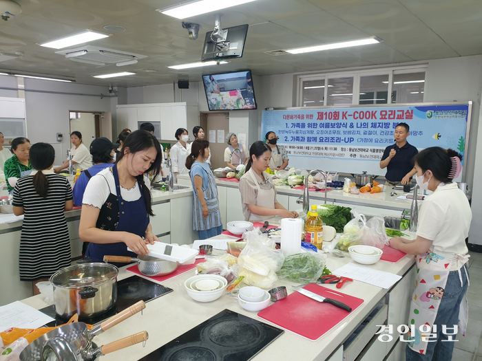
{"label": "woman in green patterned top at far left", "polygon": [[34,168],[30,164],[30,140],[27,138],[15,138],[12,140],[12,152],[14,155],[6,160],[3,165],[3,173],[7,181],[8,193],[13,194],[13,188],[17,179],[30,175]]}

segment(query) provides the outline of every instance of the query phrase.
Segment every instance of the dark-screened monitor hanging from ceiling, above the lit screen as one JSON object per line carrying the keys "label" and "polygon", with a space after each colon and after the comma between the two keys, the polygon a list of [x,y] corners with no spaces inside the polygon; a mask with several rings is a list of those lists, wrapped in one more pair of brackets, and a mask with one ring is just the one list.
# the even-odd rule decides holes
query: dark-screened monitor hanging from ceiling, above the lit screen
{"label": "dark-screened monitor hanging from ceiling, above the lit screen", "polygon": [[[226,28],[226,39],[216,43],[213,41],[213,32],[207,32],[205,45],[202,48],[201,61],[221,61],[223,59],[241,58],[244,43],[248,34],[248,25]],[[216,40],[216,39],[214,39]]]}

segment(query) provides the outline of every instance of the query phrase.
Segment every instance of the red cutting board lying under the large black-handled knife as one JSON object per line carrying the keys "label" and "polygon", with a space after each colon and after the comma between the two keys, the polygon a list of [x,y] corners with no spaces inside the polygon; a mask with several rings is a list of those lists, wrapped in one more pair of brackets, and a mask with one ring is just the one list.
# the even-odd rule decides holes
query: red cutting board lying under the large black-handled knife
{"label": "red cutting board lying under the large black-handled knife", "polygon": [[352,311],[347,312],[329,303],[312,300],[300,292],[293,292],[260,311],[258,316],[308,340],[316,341],[364,303],[361,298],[348,296],[315,283],[303,288],[320,296],[339,300],[350,306]]}

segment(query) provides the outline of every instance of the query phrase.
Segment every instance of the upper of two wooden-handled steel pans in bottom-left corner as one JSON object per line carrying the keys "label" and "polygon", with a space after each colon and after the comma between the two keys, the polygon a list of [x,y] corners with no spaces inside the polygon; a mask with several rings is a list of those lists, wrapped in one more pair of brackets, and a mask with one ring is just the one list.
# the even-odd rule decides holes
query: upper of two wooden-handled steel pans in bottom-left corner
{"label": "upper of two wooden-handled steel pans in bottom-left corner", "polygon": [[84,322],[72,322],[67,325],[57,327],[56,329],[52,329],[52,331],[44,333],[33,342],[30,342],[30,344],[28,344],[28,346],[25,347],[25,349],[23,349],[23,351],[20,353],[20,360],[40,360],[43,346],[48,340],[54,337],[65,338],[65,340],[69,342],[69,344],[74,350],[80,352],[90,347],[90,344],[92,343],[92,338],[103,333],[104,331],[107,331],[107,329],[118,325],[118,323],[129,318],[130,316],[133,316],[134,314],[137,314],[143,309],[145,309],[145,303],[143,300],[140,300],[138,303],[127,307],[118,314],[101,322],[101,325],[97,325],[92,330],[87,329],[87,325],[85,325]]}

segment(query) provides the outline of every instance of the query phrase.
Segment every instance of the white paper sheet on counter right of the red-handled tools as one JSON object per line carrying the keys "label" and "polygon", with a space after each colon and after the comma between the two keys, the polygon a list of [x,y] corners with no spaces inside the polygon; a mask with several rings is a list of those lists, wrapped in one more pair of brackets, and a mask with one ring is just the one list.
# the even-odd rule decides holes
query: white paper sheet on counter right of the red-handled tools
{"label": "white paper sheet on counter right of the red-handled tools", "polygon": [[355,263],[348,263],[343,267],[339,267],[338,270],[333,271],[333,274],[385,289],[389,289],[401,279],[401,276],[397,276],[397,274],[372,270],[362,265],[355,265]]}

